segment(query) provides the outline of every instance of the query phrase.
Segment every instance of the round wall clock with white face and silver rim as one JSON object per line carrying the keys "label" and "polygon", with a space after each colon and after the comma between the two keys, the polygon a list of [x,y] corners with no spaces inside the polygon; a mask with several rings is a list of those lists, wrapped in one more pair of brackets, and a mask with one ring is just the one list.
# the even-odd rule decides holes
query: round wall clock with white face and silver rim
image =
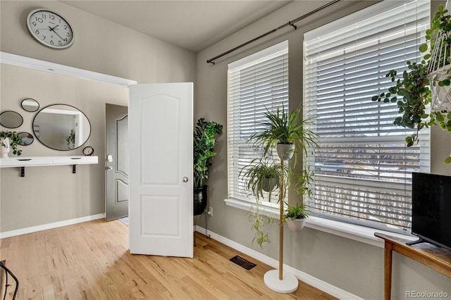
{"label": "round wall clock with white face and silver rim", "polygon": [[27,27],[37,42],[54,49],[64,49],[73,43],[69,23],[53,11],[35,9],[28,14]]}

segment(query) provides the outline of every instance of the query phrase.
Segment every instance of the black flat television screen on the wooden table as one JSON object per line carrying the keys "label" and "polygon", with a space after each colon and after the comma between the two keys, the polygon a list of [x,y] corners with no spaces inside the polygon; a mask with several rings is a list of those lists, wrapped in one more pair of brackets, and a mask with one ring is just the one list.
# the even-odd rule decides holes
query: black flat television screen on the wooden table
{"label": "black flat television screen on the wooden table", "polygon": [[412,233],[451,250],[451,176],[412,173]]}

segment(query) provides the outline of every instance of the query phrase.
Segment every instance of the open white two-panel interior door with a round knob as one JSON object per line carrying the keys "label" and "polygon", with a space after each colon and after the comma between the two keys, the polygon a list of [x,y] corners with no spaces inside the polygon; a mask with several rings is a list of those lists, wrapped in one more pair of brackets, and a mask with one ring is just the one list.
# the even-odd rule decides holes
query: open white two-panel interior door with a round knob
{"label": "open white two-panel interior door with a round knob", "polygon": [[131,85],[130,253],[193,256],[192,83]]}

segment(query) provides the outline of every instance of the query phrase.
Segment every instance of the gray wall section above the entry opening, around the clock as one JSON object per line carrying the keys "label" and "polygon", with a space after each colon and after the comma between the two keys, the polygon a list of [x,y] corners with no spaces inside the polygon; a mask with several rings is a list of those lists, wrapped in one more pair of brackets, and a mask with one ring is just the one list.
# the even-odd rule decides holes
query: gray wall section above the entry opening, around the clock
{"label": "gray wall section above the entry opening, around the clock", "polygon": [[[63,2],[2,0],[0,8],[1,51],[138,83],[194,80],[196,57],[192,52]],[[25,23],[27,14],[35,8],[49,8],[64,15],[74,30],[73,45],[54,50],[36,42]]]}

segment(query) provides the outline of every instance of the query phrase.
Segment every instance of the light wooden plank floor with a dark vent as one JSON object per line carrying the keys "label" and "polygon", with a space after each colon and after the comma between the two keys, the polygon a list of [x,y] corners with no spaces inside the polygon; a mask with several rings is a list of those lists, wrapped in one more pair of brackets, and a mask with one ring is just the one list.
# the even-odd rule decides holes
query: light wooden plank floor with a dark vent
{"label": "light wooden plank floor with a dark vent", "polygon": [[[193,259],[132,255],[126,225],[95,220],[1,239],[0,261],[18,277],[18,299],[334,299],[303,282],[273,292],[268,265],[196,235]],[[235,255],[257,266],[245,270]]]}

